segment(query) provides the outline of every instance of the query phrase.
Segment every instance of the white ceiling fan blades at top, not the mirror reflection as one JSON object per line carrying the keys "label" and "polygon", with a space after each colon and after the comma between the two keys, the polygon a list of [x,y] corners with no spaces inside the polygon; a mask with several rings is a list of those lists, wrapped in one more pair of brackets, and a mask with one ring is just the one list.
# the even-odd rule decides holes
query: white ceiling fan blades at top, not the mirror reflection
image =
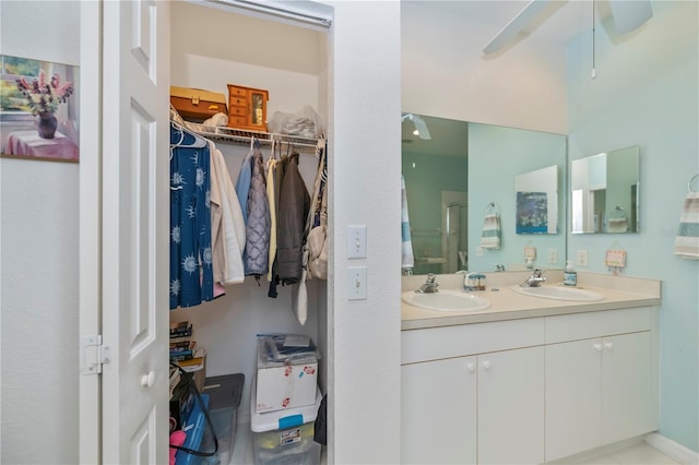
{"label": "white ceiling fan blades at top, not the mirror reflection", "polygon": [[[593,8],[594,8],[594,1]],[[485,53],[495,53],[510,44],[520,33],[542,21],[547,10],[560,8],[561,0],[532,0],[485,46]],[[616,32],[619,35],[640,27],[653,15],[650,0],[608,0]]]}

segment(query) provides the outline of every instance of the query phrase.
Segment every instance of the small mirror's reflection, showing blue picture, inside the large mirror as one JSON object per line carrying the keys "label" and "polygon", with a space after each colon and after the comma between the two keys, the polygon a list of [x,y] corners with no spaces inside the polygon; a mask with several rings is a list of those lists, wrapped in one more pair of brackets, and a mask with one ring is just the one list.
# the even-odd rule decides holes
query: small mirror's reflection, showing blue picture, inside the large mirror
{"label": "small mirror's reflection, showing blue picture, inside the large mirror", "polygon": [[514,178],[517,234],[558,234],[558,166]]}

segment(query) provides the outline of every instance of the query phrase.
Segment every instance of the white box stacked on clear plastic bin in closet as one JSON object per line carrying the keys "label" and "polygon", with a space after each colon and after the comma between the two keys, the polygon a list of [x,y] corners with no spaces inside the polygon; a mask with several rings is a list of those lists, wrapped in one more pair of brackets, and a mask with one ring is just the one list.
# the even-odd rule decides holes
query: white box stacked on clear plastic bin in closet
{"label": "white box stacked on clear plastic bin in closet", "polygon": [[316,403],[318,360],[313,355],[270,362],[264,342],[258,344],[256,412],[275,412]]}

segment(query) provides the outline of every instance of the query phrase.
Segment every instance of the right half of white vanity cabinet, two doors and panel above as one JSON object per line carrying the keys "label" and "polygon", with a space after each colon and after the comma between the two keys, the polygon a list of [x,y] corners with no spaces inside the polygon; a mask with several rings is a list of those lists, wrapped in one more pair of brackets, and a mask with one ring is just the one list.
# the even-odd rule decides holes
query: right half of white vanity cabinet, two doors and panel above
{"label": "right half of white vanity cabinet, two doors and panel above", "polygon": [[547,318],[546,461],[656,429],[651,318],[649,307]]}

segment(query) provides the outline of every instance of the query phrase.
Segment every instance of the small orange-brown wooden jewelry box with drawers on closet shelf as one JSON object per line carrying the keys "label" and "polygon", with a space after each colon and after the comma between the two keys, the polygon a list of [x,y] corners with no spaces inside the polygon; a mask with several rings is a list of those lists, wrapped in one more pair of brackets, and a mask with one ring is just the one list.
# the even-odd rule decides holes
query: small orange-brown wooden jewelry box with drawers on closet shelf
{"label": "small orange-brown wooden jewelry box with drawers on closet shelf", "polygon": [[266,100],[260,88],[228,84],[228,127],[266,132]]}

